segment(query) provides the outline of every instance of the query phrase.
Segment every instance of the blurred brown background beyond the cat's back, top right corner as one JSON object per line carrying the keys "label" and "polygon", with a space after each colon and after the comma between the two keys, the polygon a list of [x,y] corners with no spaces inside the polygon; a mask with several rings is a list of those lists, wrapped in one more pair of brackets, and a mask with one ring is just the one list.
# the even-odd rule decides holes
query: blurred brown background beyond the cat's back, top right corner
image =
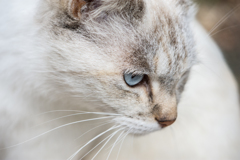
{"label": "blurred brown background beyond the cat's back, top right corner", "polygon": [[240,0],[195,0],[198,20],[222,49],[240,85]]}

